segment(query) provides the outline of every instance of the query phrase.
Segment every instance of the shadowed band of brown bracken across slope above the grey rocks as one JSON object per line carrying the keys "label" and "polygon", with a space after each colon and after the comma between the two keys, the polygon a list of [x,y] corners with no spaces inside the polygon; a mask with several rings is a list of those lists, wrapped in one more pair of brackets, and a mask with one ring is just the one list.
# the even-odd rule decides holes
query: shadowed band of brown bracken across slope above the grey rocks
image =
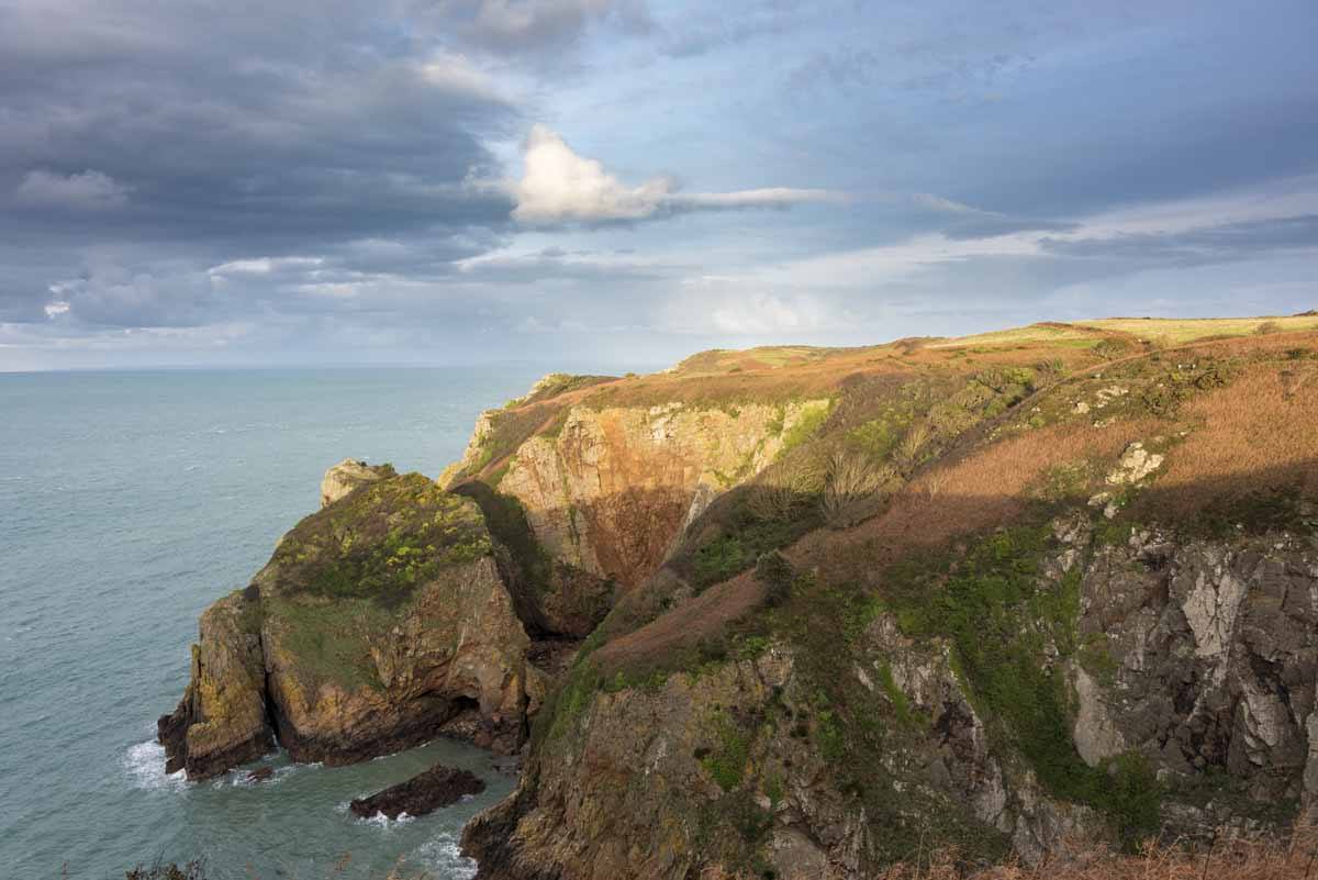
{"label": "shadowed band of brown bracken across slope above the grey rocks", "polygon": [[1064,515],[1087,516],[1095,540],[1107,541],[1151,527],[1181,540],[1226,541],[1282,531],[1318,540],[1318,460],[1176,487],[1153,482],[1132,493],[1112,518],[1103,514],[1103,505],[1089,503],[1093,487],[1044,498],[929,494],[908,486],[863,522],[830,528],[817,510],[818,495],[799,495],[788,505],[786,510],[796,511],[792,520],[766,522],[747,511],[753,491],[754,486],[742,486],[717,499],[687,528],[667,561],[619,598],[601,628],[601,660],[655,657],[717,640],[729,624],[764,603],[755,565],[774,552],[822,584],[882,595],[884,573],[896,564],[958,555],[996,530],[1043,526]]}

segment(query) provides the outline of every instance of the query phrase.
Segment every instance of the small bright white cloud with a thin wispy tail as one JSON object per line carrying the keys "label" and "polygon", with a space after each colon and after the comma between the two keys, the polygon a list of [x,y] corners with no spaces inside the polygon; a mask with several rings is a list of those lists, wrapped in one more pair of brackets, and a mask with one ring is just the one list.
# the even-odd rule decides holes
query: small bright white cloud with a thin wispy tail
{"label": "small bright white cloud with a thin wispy tail", "polygon": [[787,208],[807,202],[842,202],[828,190],[770,187],[735,192],[679,192],[671,178],[629,187],[598,159],[579,155],[556,132],[534,125],[522,155],[522,179],[513,184],[513,219],[526,224],[646,220],[681,211]]}

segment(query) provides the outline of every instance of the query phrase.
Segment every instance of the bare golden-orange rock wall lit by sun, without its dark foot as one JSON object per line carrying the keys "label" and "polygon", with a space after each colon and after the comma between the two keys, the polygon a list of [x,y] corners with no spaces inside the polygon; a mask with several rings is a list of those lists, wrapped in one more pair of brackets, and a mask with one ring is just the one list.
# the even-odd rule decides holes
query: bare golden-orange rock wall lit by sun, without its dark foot
{"label": "bare golden-orange rock wall lit by sun, without its dark foot", "polygon": [[[828,406],[576,406],[558,436],[517,449],[498,490],[522,503],[556,560],[631,589],[720,493],[774,461],[791,431]],[[480,436],[477,424],[473,443]]]}

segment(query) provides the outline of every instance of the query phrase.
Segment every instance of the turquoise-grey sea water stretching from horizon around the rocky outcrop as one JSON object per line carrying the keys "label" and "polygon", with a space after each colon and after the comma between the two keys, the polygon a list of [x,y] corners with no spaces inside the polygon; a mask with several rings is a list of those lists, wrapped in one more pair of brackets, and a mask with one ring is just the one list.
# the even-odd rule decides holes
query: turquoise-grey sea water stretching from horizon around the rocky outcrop
{"label": "turquoise-grey sea water stretching from horizon around the rocky outcrop", "polygon": [[[157,856],[212,877],[468,877],[457,834],[514,780],[435,742],[356,767],[166,777],[157,715],[187,681],[202,609],[315,511],[344,457],[438,474],[526,368],[0,375],[0,876],[121,877]],[[435,760],[489,788],[428,817],[347,802]],[[337,873],[336,873],[337,869]]]}

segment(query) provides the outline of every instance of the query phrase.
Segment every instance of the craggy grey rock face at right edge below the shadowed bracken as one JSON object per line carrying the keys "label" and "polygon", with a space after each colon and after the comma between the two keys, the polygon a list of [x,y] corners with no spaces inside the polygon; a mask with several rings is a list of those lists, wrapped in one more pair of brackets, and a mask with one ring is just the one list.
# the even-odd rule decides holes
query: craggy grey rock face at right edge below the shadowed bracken
{"label": "craggy grey rock face at right edge below the shadowed bracken", "polygon": [[1314,801],[1311,539],[1139,531],[1094,556],[1083,609],[1081,632],[1103,660],[1102,684],[1077,688],[1077,743],[1095,757],[1136,747],[1180,775],[1222,768],[1256,801]]}

